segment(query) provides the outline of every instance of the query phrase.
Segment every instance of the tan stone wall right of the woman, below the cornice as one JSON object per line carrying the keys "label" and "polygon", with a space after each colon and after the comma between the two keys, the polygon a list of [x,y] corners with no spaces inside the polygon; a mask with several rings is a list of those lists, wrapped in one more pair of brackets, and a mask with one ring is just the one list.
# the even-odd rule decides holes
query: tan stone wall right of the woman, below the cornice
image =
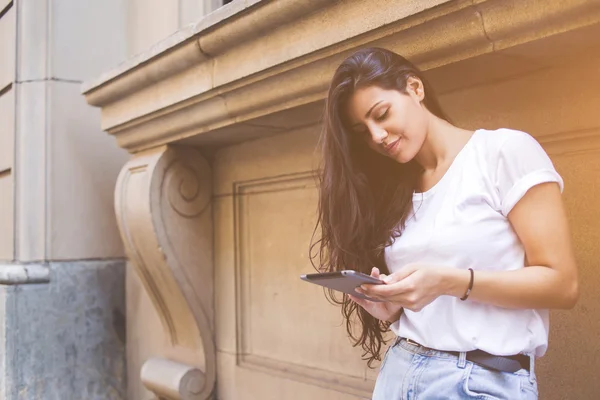
{"label": "tan stone wall right of the woman, below the cornice", "polygon": [[[457,66],[460,68],[460,65]],[[600,58],[582,55],[511,79],[451,89],[442,105],[461,126],[510,127],[534,135],[565,181],[563,199],[580,270],[579,304],[553,311],[550,347],[539,360],[540,398],[592,399],[600,390]],[[569,137],[571,139],[561,140]]]}

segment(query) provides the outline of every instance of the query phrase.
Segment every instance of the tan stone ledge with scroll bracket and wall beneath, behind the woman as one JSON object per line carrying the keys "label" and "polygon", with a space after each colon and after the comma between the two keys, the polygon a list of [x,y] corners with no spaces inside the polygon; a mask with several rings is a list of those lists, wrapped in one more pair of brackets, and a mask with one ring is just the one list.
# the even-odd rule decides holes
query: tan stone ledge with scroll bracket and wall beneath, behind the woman
{"label": "tan stone ledge with scroll bracket and wall beneath, behind the woman", "polygon": [[[376,372],[339,311],[298,279],[311,270],[328,79],[363,46],[425,69],[458,125],[522,129],[551,155],[583,294],[552,314],[541,398],[594,398],[600,3],[576,0],[238,0],[87,83],[103,129],[131,153],[116,196],[140,278],[128,277],[131,398],[145,396],[140,370],[168,398],[213,386],[221,399],[369,396]],[[201,394],[184,394],[175,373],[151,378],[160,360],[180,363],[178,376],[202,371]]]}

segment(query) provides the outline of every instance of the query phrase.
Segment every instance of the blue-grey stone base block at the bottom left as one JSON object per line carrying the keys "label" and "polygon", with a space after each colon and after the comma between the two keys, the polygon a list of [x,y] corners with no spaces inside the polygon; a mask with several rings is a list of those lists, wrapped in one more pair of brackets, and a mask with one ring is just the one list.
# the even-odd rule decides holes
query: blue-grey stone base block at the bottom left
{"label": "blue-grey stone base block at the bottom left", "polygon": [[49,283],[0,286],[0,398],[126,399],[124,261],[41,267]]}

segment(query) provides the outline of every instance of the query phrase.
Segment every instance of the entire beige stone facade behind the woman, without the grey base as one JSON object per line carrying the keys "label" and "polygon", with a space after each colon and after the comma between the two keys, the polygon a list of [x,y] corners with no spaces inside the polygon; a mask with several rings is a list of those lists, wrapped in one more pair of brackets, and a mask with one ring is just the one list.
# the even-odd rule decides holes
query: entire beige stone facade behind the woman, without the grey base
{"label": "entire beige stone facade behind the woman, without the grey base", "polygon": [[426,70],[457,125],[527,131],[552,157],[582,296],[552,313],[540,398],[595,398],[599,2],[60,3],[0,0],[0,260],[126,255],[125,398],[369,398],[376,370],[299,279],[328,80],[365,46]]}

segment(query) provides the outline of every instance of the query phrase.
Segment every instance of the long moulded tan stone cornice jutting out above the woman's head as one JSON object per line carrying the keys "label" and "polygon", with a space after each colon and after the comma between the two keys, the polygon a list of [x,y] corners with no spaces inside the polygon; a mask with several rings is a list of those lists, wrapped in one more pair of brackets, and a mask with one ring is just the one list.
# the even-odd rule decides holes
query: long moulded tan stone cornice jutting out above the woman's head
{"label": "long moulded tan stone cornice jutting out above the woman's head", "polygon": [[[335,66],[359,47],[390,48],[427,70],[600,22],[600,2],[583,0],[367,3],[234,2],[236,13],[225,8],[220,20],[180,31],[84,94],[130,152],[190,137],[220,144],[249,138],[228,132],[236,125],[323,100]],[[563,51],[546,47],[546,55]]]}

